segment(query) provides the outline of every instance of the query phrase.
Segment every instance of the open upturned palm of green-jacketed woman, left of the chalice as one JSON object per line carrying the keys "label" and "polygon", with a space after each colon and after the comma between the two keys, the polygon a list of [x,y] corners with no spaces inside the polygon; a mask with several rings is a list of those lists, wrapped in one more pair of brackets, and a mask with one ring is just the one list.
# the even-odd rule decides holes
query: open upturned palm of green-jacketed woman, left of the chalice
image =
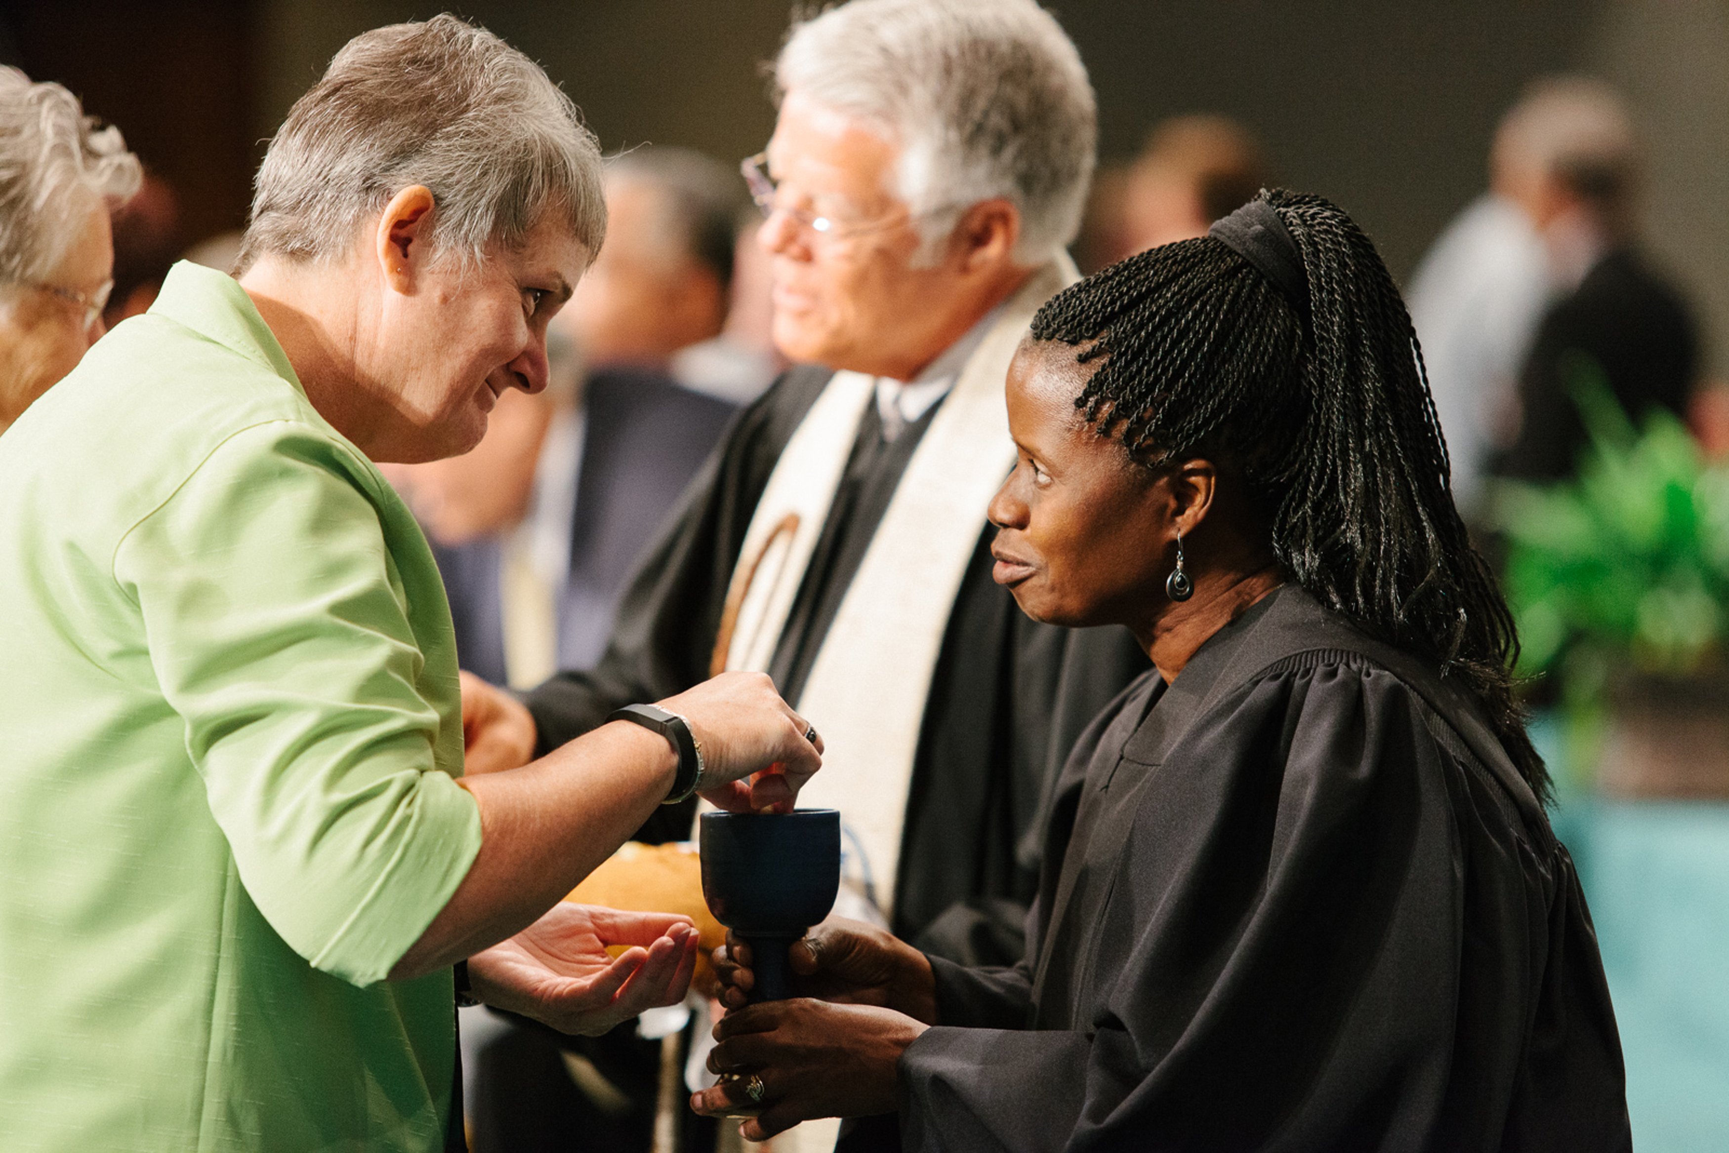
{"label": "open upturned palm of green-jacketed woman, left of the chalice", "polygon": [[[631,946],[617,959],[607,946]],[[697,965],[697,927],[669,913],[560,901],[515,937],[469,958],[475,997],[567,1034],[598,1035],[678,1004]]]}

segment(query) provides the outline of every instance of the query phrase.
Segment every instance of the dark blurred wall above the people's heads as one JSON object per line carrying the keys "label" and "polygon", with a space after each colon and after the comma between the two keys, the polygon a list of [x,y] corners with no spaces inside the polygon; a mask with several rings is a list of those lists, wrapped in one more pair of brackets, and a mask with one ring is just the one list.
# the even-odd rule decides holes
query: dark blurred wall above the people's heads
{"label": "dark blurred wall above the people's heads", "polygon": [[[762,62],[788,0],[5,0],[0,55],[66,83],[126,133],[178,201],[178,240],[244,221],[263,142],[354,33],[450,7],[536,57],[612,150],[757,150]],[[1496,118],[1546,73],[1627,97],[1649,147],[1649,247],[1729,332],[1729,5],[1719,0],[1058,0],[1093,73],[1101,156],[1148,126],[1222,112],[1276,176],[1350,211],[1399,277],[1487,182]]]}

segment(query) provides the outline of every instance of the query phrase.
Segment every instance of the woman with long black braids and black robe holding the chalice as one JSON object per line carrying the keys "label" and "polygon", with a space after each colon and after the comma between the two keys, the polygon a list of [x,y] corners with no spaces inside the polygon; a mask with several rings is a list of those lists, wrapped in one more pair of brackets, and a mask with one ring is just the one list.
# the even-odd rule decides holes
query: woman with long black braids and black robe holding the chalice
{"label": "woman with long black braids and black robe holding the chalice", "polygon": [[807,997],[747,1006],[733,944],[695,1105],[897,1108],[911,1150],[1630,1148],[1513,624],[1368,237],[1264,192],[1107,268],[1008,411],[996,579],[1155,666],[1055,785],[1027,961],[830,923]]}

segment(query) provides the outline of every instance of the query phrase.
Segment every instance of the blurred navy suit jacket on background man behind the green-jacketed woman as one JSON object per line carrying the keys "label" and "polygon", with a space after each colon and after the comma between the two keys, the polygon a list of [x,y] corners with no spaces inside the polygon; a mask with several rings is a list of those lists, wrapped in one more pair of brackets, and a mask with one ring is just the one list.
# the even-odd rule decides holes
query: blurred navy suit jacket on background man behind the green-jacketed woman
{"label": "blurred navy suit jacket on background man behind the green-jacketed woman", "polygon": [[[588,379],[571,570],[555,589],[560,669],[600,659],[626,579],[735,411],[650,370],[610,368]],[[450,595],[458,662],[503,685],[503,541],[434,543],[432,553]]]}

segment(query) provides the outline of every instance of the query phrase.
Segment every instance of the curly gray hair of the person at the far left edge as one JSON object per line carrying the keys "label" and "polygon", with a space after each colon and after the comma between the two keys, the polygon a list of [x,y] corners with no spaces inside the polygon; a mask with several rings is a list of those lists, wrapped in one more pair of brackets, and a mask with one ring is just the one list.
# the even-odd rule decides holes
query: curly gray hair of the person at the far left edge
{"label": "curly gray hair of the person at the far left edge", "polygon": [[0,67],[0,283],[41,277],[76,239],[62,197],[128,197],[144,173],[118,128],[99,128],[61,85]]}

